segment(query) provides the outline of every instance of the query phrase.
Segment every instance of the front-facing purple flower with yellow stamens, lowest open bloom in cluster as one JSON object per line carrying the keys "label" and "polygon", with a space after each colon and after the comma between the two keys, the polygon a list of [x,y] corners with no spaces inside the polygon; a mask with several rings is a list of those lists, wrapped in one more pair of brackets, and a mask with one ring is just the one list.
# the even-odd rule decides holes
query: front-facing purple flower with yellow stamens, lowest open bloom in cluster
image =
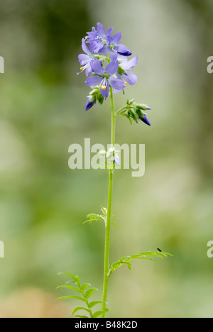
{"label": "front-facing purple flower with yellow stamens, lowest open bloom in cluster", "polygon": [[99,60],[97,59],[94,59],[91,62],[91,67],[93,72],[96,74],[88,77],[86,80],[86,84],[89,87],[96,87],[97,85],[99,85],[100,92],[105,99],[107,99],[107,97],[109,96],[109,87],[113,87],[118,91],[124,89],[124,82],[121,79],[113,76],[119,69],[118,60],[111,61],[104,70],[101,62],[99,62]]}

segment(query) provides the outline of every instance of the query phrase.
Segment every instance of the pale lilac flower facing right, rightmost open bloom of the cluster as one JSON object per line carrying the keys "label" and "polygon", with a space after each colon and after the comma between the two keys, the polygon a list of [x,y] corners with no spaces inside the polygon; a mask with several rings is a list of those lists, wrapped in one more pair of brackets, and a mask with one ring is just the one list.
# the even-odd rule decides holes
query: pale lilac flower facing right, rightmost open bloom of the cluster
{"label": "pale lilac flower facing right, rightmost open bloom of the cluster", "polygon": [[[119,79],[122,79],[124,81],[125,85],[134,85],[138,81],[138,77],[136,74],[131,72],[130,70],[135,67],[138,63],[138,55],[136,57],[133,57],[130,61],[126,59],[126,57],[119,57],[119,59],[122,60],[121,64],[119,65],[118,72],[116,74],[116,77]],[[116,94],[117,90],[114,90],[114,94]]]}

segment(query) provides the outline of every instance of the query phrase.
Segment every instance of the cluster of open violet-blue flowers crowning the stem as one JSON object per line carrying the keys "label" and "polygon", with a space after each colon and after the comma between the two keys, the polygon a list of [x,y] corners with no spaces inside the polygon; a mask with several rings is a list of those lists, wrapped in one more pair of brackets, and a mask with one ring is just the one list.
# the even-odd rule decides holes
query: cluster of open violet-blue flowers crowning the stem
{"label": "cluster of open violet-blue flowers crowning the stem", "polygon": [[[132,52],[121,44],[121,33],[112,36],[114,28],[105,31],[101,23],[97,23],[97,28],[92,28],[91,32],[82,39],[82,50],[84,54],[78,56],[80,62],[80,74],[85,72],[86,84],[92,87],[92,91],[87,97],[85,110],[96,104],[104,102],[109,93],[118,93],[127,85],[136,84],[138,78],[131,72],[138,62],[138,56],[128,60]],[[143,121],[143,115],[139,118]],[[147,118],[148,119],[148,118]],[[149,121],[143,121],[150,125]]]}

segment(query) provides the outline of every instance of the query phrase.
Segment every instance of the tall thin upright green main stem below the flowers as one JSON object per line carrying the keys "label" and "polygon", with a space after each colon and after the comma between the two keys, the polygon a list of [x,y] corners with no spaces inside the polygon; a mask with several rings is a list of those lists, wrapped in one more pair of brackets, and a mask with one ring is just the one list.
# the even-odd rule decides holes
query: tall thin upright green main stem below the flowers
{"label": "tall thin upright green main stem below the flowers", "polygon": [[[111,97],[111,148],[115,143],[115,109],[114,109],[114,96],[113,90],[110,87]],[[107,226],[105,233],[105,252],[104,252],[104,286],[103,286],[103,304],[102,310],[107,307],[107,293],[109,284],[109,240],[110,240],[110,226],[111,226],[111,201],[112,201],[112,185],[113,185],[114,168],[109,169],[109,190],[108,190],[108,204],[107,204]],[[102,318],[105,314],[102,315]]]}

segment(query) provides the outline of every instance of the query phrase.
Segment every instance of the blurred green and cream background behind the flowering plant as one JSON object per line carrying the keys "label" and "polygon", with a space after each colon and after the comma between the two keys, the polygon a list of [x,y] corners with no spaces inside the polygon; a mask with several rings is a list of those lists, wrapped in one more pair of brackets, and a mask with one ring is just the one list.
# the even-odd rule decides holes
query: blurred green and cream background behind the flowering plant
{"label": "blurred green and cream background behind the flowering plant", "polygon": [[212,0],[0,1],[1,317],[63,317],[65,271],[99,288],[104,227],[82,225],[107,205],[107,170],[70,170],[68,147],[109,143],[109,101],[84,111],[81,39],[98,21],[138,54],[138,84],[116,96],[152,107],[152,126],[117,122],[117,143],[146,144],[146,175],[116,171],[111,262],[161,248],[111,277],[111,317],[212,317]]}

